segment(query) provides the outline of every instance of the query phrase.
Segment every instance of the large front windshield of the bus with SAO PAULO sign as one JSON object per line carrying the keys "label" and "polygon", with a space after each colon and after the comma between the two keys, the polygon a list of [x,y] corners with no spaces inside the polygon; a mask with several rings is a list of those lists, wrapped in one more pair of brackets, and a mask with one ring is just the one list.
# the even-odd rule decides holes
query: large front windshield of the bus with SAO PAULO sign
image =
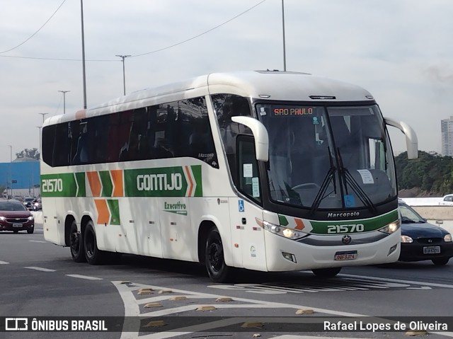
{"label": "large front windshield of the bus with SAO PAULO sign", "polygon": [[396,197],[377,105],[258,104],[269,135],[270,199],[314,209],[369,208]]}

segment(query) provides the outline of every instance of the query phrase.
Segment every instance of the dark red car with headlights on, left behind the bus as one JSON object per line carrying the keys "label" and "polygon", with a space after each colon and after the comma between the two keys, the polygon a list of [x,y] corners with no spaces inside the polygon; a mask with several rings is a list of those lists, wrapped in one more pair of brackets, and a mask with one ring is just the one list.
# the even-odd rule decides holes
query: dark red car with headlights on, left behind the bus
{"label": "dark red car with headlights on, left behind the bus", "polygon": [[33,214],[23,205],[15,200],[0,201],[0,231],[27,231],[32,234],[35,230],[35,219]]}

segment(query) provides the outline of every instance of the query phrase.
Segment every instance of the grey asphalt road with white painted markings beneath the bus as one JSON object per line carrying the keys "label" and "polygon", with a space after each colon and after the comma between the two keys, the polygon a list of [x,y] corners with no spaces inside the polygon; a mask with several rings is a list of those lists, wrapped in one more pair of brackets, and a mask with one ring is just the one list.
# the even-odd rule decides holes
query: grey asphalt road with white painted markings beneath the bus
{"label": "grey asphalt road with white painted markings beneath the bus", "polygon": [[[428,336],[453,337],[453,260],[444,267],[427,261],[343,268],[329,280],[239,270],[234,283],[214,284],[195,263],[137,255],[109,265],[74,263],[68,248],[43,239],[38,224],[35,234],[0,232],[0,291],[0,317],[70,324],[88,316],[115,330],[8,331],[0,338],[407,338],[407,331],[367,327],[393,328],[398,320],[447,323],[448,331],[435,328]],[[338,321],[352,321],[345,316],[363,331],[336,331]]]}

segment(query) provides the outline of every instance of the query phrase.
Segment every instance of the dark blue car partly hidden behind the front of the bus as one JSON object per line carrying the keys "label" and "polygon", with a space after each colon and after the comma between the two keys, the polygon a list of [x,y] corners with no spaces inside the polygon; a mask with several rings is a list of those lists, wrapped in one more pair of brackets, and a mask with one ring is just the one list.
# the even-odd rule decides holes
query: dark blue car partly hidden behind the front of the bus
{"label": "dark blue car partly hidden behind the front of the bus", "polygon": [[446,265],[453,257],[452,235],[442,227],[426,222],[420,214],[398,202],[401,212],[400,261],[431,260],[435,265]]}

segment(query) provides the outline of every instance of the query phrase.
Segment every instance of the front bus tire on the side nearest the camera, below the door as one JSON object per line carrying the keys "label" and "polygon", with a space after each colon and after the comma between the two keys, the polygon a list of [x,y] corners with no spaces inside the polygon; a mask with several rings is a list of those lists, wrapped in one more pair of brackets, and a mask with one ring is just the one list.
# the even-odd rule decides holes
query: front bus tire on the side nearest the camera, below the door
{"label": "front bus tire on the side nearest the camera, below the door", "polygon": [[213,282],[226,282],[231,269],[224,259],[224,248],[217,228],[212,227],[207,234],[205,248],[205,265],[207,274]]}

